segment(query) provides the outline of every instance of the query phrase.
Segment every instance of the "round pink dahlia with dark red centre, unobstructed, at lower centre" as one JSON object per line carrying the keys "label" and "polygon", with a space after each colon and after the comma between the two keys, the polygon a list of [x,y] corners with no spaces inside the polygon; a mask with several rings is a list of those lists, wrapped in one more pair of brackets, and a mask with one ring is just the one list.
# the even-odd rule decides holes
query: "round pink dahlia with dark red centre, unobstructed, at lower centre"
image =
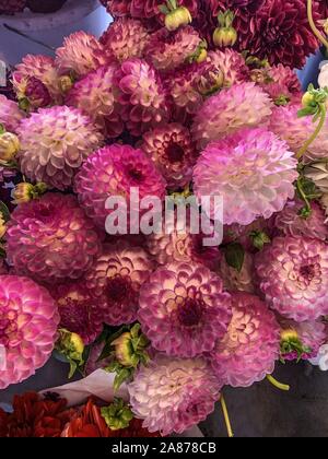
{"label": "round pink dahlia with dark red centre, unobstructed, at lower centre", "polygon": [[159,268],[140,292],[138,319],[152,346],[168,355],[195,357],[213,349],[231,320],[231,301],[221,278],[202,264]]}

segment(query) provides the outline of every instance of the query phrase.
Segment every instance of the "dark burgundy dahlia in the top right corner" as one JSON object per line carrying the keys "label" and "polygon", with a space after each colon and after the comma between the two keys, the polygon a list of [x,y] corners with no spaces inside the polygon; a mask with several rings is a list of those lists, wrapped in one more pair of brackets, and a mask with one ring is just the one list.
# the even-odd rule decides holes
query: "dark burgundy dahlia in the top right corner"
{"label": "dark burgundy dahlia in the top right corner", "polygon": [[[313,2],[314,19],[319,19],[317,2]],[[282,63],[301,69],[306,57],[318,48],[311,30],[306,2],[303,0],[270,0],[258,9],[248,24],[242,47],[271,64]]]}

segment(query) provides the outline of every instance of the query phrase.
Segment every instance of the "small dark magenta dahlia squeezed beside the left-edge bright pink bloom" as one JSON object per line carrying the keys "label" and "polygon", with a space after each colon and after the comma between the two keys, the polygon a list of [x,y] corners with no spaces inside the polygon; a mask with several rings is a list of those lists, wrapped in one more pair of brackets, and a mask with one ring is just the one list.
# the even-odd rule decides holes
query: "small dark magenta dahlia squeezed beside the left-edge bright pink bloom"
{"label": "small dark magenta dahlia squeezed beside the left-edge bright pink bloom", "polygon": [[91,344],[103,331],[104,314],[84,281],[56,285],[51,295],[57,302],[60,327],[78,333]]}

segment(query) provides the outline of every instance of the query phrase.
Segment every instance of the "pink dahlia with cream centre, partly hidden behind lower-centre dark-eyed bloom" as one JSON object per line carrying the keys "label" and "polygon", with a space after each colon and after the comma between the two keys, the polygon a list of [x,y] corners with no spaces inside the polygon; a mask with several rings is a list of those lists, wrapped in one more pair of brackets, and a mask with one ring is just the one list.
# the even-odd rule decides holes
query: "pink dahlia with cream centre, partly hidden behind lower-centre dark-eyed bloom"
{"label": "pink dahlia with cream centre, partly hidden behind lower-centre dark-eyed bloom", "polygon": [[257,296],[232,294],[233,318],[211,353],[218,378],[232,387],[249,387],[274,369],[280,328],[273,313]]}

